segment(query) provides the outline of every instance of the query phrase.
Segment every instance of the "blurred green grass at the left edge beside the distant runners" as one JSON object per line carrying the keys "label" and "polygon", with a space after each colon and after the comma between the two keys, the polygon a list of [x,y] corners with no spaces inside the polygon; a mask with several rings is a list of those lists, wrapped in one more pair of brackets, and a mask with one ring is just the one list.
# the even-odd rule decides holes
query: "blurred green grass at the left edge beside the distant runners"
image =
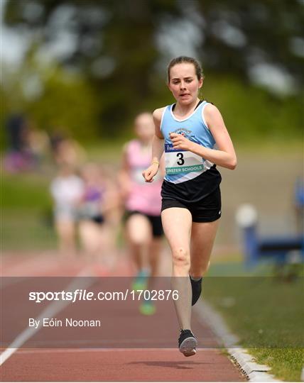
{"label": "blurred green grass at the left edge beside the distant runners", "polygon": [[49,182],[41,174],[2,174],[2,250],[55,248]]}

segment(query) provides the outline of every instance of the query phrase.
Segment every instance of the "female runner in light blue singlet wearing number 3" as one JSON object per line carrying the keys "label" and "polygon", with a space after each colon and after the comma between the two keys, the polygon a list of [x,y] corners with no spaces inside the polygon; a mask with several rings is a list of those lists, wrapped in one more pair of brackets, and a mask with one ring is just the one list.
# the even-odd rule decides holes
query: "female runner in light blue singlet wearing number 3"
{"label": "female runner in light blue singlet wearing number 3", "polygon": [[232,170],[237,165],[221,113],[198,98],[202,82],[202,69],[194,58],[170,61],[168,88],[176,103],[153,113],[152,161],[143,171],[146,182],[152,182],[165,151],[161,218],[173,257],[172,288],[179,292],[174,301],[178,347],[185,356],[196,353],[191,305],[200,297],[221,216],[221,175],[216,165]]}

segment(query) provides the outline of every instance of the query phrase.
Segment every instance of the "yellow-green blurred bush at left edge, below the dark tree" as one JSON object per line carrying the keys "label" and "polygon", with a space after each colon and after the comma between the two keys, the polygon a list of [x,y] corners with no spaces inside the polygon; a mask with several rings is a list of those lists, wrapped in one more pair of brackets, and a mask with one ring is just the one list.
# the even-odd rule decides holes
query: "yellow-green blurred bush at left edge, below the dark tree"
{"label": "yellow-green blurred bush at left edge, below the dark tree", "polygon": [[22,110],[37,128],[49,133],[60,131],[80,140],[98,135],[99,100],[80,74],[59,66],[43,67],[31,55],[19,72],[4,81],[1,93],[2,116]]}

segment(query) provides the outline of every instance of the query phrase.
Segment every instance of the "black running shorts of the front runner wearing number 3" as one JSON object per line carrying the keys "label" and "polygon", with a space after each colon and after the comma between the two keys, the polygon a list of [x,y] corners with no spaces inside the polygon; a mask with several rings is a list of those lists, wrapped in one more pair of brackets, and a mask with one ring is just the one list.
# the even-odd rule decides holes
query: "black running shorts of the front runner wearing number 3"
{"label": "black running shorts of the front runner wearing number 3", "polygon": [[161,211],[171,207],[188,209],[192,215],[192,222],[217,221],[222,214],[221,191],[219,187],[196,202],[178,201],[177,199],[163,199]]}

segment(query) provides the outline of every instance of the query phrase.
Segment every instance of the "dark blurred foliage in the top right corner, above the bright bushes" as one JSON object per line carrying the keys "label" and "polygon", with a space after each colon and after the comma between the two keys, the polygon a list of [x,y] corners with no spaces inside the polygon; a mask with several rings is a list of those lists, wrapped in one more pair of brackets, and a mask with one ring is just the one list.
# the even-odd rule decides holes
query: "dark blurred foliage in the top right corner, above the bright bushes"
{"label": "dark blurred foliage in the top right corner, above the bright bushes", "polygon": [[268,62],[303,84],[304,56],[291,49],[304,35],[302,0],[200,0],[197,7],[205,19],[201,56],[212,70],[246,78],[250,65]]}

